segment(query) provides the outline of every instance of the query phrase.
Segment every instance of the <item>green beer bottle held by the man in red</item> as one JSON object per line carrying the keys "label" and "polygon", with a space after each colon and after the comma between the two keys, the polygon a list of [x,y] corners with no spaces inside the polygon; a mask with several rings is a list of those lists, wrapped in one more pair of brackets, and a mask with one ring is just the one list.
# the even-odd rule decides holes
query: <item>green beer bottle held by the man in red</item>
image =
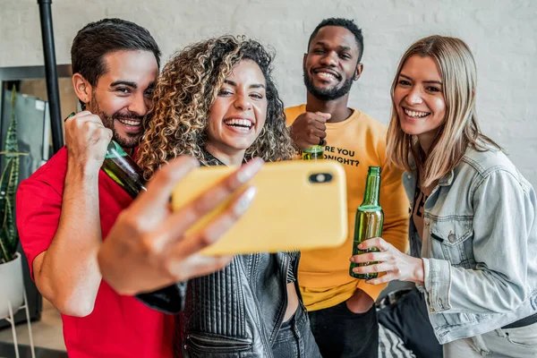
{"label": "green beer bottle held by the man in red", "polygon": [[101,168],[131,195],[132,199],[146,190],[140,166],[115,141],[110,141],[108,144],[107,155]]}

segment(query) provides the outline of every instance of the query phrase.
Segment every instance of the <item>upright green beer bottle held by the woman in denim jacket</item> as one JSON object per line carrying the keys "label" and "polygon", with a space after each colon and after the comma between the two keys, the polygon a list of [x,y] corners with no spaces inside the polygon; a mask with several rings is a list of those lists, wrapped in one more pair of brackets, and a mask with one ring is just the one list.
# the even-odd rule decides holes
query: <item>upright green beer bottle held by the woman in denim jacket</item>
{"label": "upright green beer bottle held by the woman in denim jacket", "polygon": [[[382,225],[384,224],[384,212],[379,204],[380,194],[380,166],[370,166],[367,173],[367,182],[365,184],[365,193],[363,194],[362,205],[356,210],[356,218],[354,221],[354,241],[353,241],[353,256],[365,252],[379,251],[379,249],[371,248],[368,250],[359,250],[358,245],[364,240],[371,237],[379,237],[382,234]],[[376,262],[354,263],[351,262],[349,275],[355,278],[371,279],[376,278],[378,273],[371,274],[356,274],[353,268],[359,266],[367,266]]]}

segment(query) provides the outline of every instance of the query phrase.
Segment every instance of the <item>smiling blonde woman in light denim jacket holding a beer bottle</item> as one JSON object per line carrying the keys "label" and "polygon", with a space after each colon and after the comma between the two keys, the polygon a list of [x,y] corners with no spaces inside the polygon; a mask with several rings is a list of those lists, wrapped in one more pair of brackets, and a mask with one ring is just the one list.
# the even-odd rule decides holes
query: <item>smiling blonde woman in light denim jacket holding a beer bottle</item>
{"label": "smiling blonde woman in light denim jacket holding a beer bottle", "polygon": [[[401,59],[392,84],[388,157],[404,167],[412,256],[382,238],[362,243],[369,283],[412,281],[425,295],[445,357],[537,356],[535,192],[482,134],[473,55],[431,36]],[[382,203],[389,205],[389,203]]]}

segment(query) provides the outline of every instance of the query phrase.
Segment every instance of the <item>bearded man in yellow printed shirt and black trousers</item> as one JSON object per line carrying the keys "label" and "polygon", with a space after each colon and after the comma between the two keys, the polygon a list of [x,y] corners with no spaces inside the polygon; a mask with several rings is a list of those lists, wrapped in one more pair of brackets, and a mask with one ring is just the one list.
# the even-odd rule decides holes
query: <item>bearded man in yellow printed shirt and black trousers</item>
{"label": "bearded man in yellow printed shirt and black trousers", "polygon": [[[307,104],[286,108],[297,147],[324,145],[324,158],[342,163],[347,180],[349,235],[345,244],[303,251],[299,266],[303,301],[324,357],[378,356],[379,322],[373,303],[386,285],[372,286],[349,276],[354,215],[362,203],[369,166],[382,167],[383,238],[401,251],[407,244],[408,200],[402,172],[386,163],[387,129],[369,115],[347,107],[352,84],[362,74],[362,52],[362,30],[354,21],[321,21],[303,58]],[[319,205],[322,210],[322,202]]]}

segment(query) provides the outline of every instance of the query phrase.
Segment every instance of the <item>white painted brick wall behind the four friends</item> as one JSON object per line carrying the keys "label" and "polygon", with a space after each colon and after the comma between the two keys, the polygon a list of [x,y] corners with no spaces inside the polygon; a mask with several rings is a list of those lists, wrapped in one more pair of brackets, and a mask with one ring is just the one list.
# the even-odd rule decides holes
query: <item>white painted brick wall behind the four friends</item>
{"label": "white painted brick wall behind the four friends", "polygon": [[[537,187],[537,1],[535,0],[55,0],[56,58],[69,63],[77,30],[121,17],[148,28],[166,59],[192,41],[246,34],[277,51],[277,82],[286,105],[302,103],[302,58],[311,30],[326,17],[362,27],[362,78],[351,106],[388,124],[389,86],[399,56],[433,33],[463,38],[478,68],[482,129],[507,149]],[[42,64],[36,0],[0,0],[0,66]]]}

